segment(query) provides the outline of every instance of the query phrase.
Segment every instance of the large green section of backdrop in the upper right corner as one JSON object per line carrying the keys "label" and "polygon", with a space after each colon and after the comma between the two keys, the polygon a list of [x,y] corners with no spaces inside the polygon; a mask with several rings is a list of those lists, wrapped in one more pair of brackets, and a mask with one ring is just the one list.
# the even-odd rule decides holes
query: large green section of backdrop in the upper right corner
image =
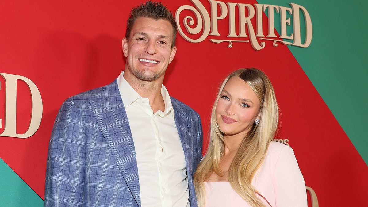
{"label": "large green section of backdrop in the upper right corner", "polygon": [[[288,47],[368,164],[368,108],[365,106],[368,101],[368,41],[359,38],[368,33],[365,22],[368,1],[258,0],[258,3],[289,8],[289,3],[295,3],[308,11],[313,28],[311,45]],[[348,14],[354,14],[354,18],[347,18]],[[278,18],[279,14],[275,13],[275,28],[280,33]],[[302,18],[301,23],[304,23]],[[301,25],[301,28],[304,27]],[[290,35],[292,26],[287,26],[287,31]],[[323,124],[323,117],[316,122]]]}

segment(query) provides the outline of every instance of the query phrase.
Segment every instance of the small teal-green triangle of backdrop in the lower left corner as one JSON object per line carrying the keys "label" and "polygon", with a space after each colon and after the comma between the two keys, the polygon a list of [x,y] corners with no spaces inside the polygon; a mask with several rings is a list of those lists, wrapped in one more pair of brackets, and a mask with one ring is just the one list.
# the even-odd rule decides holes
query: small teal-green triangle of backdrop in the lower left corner
{"label": "small teal-green triangle of backdrop in the lower left corner", "polygon": [[43,206],[43,200],[2,159],[0,178],[1,206]]}

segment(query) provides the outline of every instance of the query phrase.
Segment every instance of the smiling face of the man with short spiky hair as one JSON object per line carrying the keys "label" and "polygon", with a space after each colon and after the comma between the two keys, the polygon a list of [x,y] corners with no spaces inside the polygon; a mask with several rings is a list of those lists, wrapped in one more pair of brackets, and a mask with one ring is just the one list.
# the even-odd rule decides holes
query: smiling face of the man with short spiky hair
{"label": "smiling face of the man with short spiky hair", "polygon": [[167,66],[174,59],[176,47],[171,48],[173,27],[167,20],[139,17],[130,32],[130,40],[123,39],[127,57],[125,73],[144,81],[163,80]]}

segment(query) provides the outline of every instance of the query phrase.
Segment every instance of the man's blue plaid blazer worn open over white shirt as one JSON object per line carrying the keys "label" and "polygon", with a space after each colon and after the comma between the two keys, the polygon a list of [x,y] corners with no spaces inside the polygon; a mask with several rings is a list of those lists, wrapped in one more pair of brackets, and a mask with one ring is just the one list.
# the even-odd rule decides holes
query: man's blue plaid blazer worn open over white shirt
{"label": "man's blue plaid blazer worn open over white shirt", "polygon": [[[171,98],[187,165],[202,158],[198,113]],[[134,143],[117,81],[64,101],[54,122],[46,165],[45,206],[141,206]]]}

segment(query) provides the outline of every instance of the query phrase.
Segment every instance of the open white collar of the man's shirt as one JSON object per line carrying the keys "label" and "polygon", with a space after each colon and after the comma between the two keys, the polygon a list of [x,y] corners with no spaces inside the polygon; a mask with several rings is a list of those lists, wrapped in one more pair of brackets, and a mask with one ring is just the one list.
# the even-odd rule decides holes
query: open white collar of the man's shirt
{"label": "open white collar of the man's shirt", "polygon": [[[131,85],[125,80],[124,78],[124,71],[121,71],[119,76],[117,77],[117,85],[120,92],[121,99],[123,100],[124,108],[127,109],[132,103],[137,101],[137,99],[142,98],[137,91],[135,91]],[[165,109],[163,112],[156,112],[155,114],[158,114],[160,116],[164,116],[167,113],[171,112],[170,115],[172,115],[172,118],[174,119],[174,109],[173,105],[171,104],[171,99],[169,92],[166,90],[164,85],[161,87],[161,95],[165,104]],[[171,116],[170,116],[171,117]]]}

